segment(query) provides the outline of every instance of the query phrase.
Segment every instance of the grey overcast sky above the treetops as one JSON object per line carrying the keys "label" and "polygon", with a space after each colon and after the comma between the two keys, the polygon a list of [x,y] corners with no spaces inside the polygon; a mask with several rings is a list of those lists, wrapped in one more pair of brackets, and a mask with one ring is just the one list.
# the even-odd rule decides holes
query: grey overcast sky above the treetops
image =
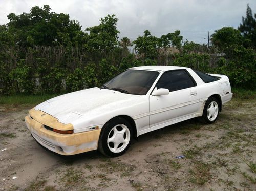
{"label": "grey overcast sky above the treetops", "polygon": [[183,41],[206,44],[208,31],[212,34],[225,26],[238,27],[247,3],[255,13],[255,0],[0,0],[0,24],[8,23],[9,13],[19,15],[29,13],[36,5],[50,5],[53,12],[78,20],[83,30],[98,25],[100,18],[115,14],[119,37],[135,40],[146,29],[157,37],[180,30]]}

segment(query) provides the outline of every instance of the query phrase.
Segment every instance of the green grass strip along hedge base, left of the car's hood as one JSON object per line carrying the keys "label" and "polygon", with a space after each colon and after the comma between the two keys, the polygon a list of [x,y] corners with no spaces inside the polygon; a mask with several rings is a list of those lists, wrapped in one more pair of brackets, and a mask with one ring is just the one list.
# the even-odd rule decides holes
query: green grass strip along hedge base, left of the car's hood
{"label": "green grass strip along hedge base, left of the car's hood", "polygon": [[10,95],[0,96],[0,105],[20,105],[20,104],[39,104],[48,99],[58,96],[58,94],[45,94],[45,95]]}

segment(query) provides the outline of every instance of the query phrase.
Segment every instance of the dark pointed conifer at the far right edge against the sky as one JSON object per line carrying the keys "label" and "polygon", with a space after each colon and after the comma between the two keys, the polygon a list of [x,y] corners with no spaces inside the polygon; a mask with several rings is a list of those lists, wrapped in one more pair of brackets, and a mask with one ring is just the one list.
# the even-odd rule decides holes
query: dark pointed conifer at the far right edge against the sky
{"label": "dark pointed conifer at the far right edge against the sky", "polygon": [[249,45],[256,46],[256,14],[254,14],[253,18],[249,4],[247,4],[246,17],[242,17],[242,24],[240,24],[238,30],[249,40]]}

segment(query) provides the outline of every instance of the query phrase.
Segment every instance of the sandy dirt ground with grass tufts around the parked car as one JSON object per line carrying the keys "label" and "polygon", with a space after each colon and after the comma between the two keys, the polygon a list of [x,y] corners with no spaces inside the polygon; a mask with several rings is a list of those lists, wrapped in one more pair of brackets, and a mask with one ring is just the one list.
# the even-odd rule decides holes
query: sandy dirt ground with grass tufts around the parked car
{"label": "sandy dirt ground with grass tufts around the parked car", "polygon": [[233,99],[211,125],[142,135],[117,158],[41,147],[24,122],[32,107],[0,105],[0,190],[256,190],[255,99]]}

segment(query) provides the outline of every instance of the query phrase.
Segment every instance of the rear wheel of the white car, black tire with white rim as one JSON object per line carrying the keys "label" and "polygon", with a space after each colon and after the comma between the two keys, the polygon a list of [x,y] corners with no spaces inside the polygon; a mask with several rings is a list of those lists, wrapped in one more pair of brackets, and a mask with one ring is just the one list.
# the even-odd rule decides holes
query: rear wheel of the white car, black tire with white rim
{"label": "rear wheel of the white car, black tire with white rim", "polygon": [[[208,111],[208,109],[212,107],[211,111]],[[209,99],[206,101],[204,105],[204,111],[203,116],[201,117],[202,121],[206,124],[214,123],[218,116],[220,111],[220,103],[219,101],[214,97],[209,97]]]}

